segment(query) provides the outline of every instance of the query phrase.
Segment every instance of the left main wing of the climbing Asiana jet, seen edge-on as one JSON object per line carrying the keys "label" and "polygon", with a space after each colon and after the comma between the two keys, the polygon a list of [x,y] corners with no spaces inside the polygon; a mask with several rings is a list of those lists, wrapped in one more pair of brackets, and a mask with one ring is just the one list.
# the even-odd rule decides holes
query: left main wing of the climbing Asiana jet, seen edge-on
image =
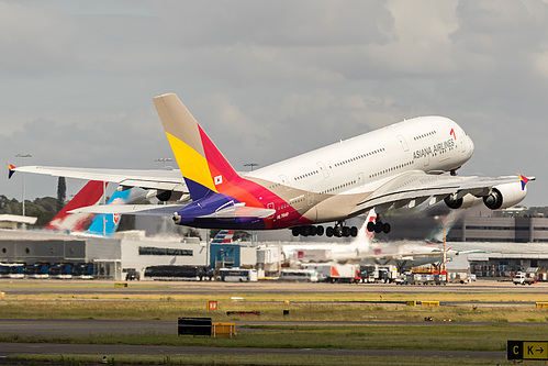
{"label": "left main wing of the climbing Asiana jet, seen edge-on", "polygon": [[112,181],[127,188],[141,187],[144,189],[172,190],[188,193],[184,179],[182,179],[181,171],[179,169],[139,170],[67,168],[55,166],[11,166],[10,171],[24,171],[86,180]]}

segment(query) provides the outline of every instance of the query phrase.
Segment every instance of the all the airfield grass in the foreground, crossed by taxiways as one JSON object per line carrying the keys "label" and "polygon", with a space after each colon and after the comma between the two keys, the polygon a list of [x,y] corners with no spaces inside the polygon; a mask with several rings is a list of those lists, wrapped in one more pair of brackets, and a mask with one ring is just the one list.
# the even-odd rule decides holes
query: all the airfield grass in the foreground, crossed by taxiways
{"label": "all the airfield grass in the foreground, crossed by taxiways", "polygon": [[[112,287],[112,286],[111,286]],[[91,287],[92,289],[93,287]],[[0,342],[94,343],[143,345],[201,345],[212,347],[262,348],[327,348],[327,350],[448,350],[503,352],[507,340],[545,340],[548,334],[548,309],[536,309],[535,301],[548,301],[548,295],[533,293],[223,293],[188,295],[156,293],[126,295],[97,292],[87,295],[47,293],[8,296],[0,300],[2,319],[133,319],[170,320],[178,317],[212,317],[215,321],[244,318],[226,315],[226,311],[260,311],[264,321],[353,321],[362,325],[243,325],[235,337],[177,336],[176,334],[89,335],[83,337],[31,336],[2,334]],[[161,291],[160,291],[161,292]],[[237,296],[241,301],[231,298]],[[206,310],[206,301],[216,300],[219,310]],[[379,301],[362,303],[349,301]],[[441,301],[440,307],[410,307],[388,301]],[[466,306],[444,306],[462,301]],[[503,306],[513,302],[512,306]],[[471,304],[473,303],[473,304]],[[488,304],[489,303],[489,304]],[[496,306],[493,306],[495,303]],[[503,307],[501,307],[503,306]],[[283,310],[289,315],[283,315]],[[424,323],[425,317],[434,322],[451,320],[452,324]],[[379,324],[376,324],[379,322]],[[402,322],[382,325],[380,322]],[[413,322],[413,324],[411,324]],[[417,324],[416,322],[423,322]],[[514,324],[521,322],[522,324]],[[410,323],[410,325],[405,325]],[[482,325],[478,325],[482,323]],[[485,324],[483,324],[485,323]],[[57,357],[57,358],[55,358]],[[18,355],[13,359],[33,363],[53,362],[74,365],[97,362],[97,355]],[[94,357],[94,358],[93,358]],[[335,356],[127,356],[116,355],[111,364],[215,364],[215,365],[334,365],[364,363],[367,365],[424,365],[439,364],[428,357],[335,357]],[[505,359],[450,358],[444,365],[494,365]]]}

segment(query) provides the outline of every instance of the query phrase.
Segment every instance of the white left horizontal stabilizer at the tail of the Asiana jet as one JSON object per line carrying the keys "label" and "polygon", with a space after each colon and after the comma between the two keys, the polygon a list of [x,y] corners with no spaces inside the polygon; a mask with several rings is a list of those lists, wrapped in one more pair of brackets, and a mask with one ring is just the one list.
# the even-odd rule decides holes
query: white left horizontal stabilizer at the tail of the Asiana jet
{"label": "white left horizontal stabilizer at the tail of the Asiana jet", "polygon": [[120,213],[148,217],[172,217],[186,204],[100,204],[69,211],[70,213]]}

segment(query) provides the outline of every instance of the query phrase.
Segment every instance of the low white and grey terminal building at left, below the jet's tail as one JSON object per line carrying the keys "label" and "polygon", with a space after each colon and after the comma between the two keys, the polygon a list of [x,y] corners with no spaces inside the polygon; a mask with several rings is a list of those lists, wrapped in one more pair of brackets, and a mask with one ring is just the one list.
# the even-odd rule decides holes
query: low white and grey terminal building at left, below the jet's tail
{"label": "low white and grey terminal building at left, below the jet's tail", "polygon": [[[125,232],[115,239],[34,231],[0,231],[0,262],[25,266],[91,266],[94,278],[125,279],[127,271],[144,274],[154,265],[206,265],[206,246],[198,239],[147,239]],[[68,275],[71,269],[60,270]],[[90,269],[91,271],[91,269]]]}

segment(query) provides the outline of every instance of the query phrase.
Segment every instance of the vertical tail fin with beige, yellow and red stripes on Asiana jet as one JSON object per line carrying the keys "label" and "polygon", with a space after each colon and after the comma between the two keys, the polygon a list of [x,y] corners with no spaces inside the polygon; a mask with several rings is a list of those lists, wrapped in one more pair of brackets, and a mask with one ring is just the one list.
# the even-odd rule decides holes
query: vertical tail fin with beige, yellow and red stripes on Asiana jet
{"label": "vertical tail fin with beige, yellow and red stripes on Asiana jet", "polygon": [[175,93],[153,98],[192,200],[222,193],[239,176]]}

